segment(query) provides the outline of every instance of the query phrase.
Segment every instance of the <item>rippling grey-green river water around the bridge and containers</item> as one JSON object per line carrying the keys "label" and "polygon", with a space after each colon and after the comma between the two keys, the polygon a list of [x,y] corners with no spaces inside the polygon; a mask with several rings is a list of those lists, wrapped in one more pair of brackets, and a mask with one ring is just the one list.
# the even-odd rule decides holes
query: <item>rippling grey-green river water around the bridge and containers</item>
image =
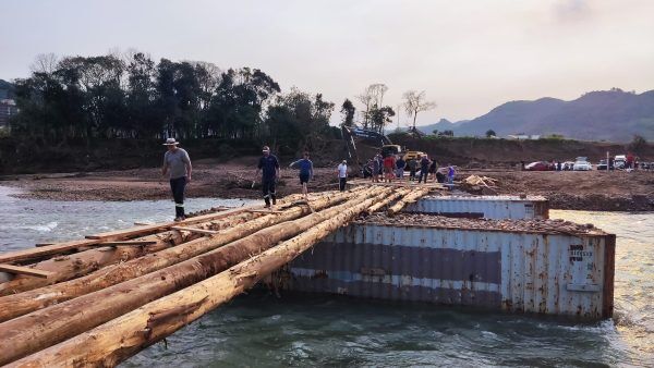
{"label": "rippling grey-green river water around the bridge and containers", "polygon": [[[16,199],[0,187],[0,252],[167,221],[168,200]],[[191,199],[190,211],[240,206]],[[550,211],[616,233],[615,318],[556,318],[325,295],[242,295],[124,367],[654,366],[654,213]]]}

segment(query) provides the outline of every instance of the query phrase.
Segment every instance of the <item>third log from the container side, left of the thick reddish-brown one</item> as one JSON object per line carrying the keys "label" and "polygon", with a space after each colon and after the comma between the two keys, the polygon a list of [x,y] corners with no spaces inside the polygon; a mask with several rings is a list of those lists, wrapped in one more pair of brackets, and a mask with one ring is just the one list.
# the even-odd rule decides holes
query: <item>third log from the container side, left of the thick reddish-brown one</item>
{"label": "third log from the container side, left of the thick reddish-brown one", "polygon": [[[354,193],[338,193],[331,197],[322,197],[313,201],[316,209],[324,209],[350,198]],[[296,219],[306,214],[306,208],[292,208],[286,214],[269,214],[257,218],[247,223],[230,228],[223,233],[210,238],[184,243],[182,245],[155,253],[149,256],[133,259],[119,265],[105,267],[92,274],[68,282],[49,285],[15,295],[0,298],[0,321],[25,315],[27,312],[48,307],[77,296],[116,285],[130,279],[147,274],[169,267],[177,262],[198,256],[227,243],[247,236],[255,231],[272,224]],[[1,284],[0,284],[1,285]]]}

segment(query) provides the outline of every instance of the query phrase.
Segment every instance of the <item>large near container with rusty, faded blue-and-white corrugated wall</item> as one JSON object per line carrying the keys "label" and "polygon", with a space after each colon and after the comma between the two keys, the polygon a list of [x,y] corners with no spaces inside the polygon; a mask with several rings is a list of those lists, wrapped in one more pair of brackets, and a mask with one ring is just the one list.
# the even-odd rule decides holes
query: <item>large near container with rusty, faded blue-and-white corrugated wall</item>
{"label": "large near container with rusty, faded blue-and-white corrugated wall", "polygon": [[614,253],[610,234],[358,223],[298,257],[283,279],[293,291],[600,319],[613,314]]}

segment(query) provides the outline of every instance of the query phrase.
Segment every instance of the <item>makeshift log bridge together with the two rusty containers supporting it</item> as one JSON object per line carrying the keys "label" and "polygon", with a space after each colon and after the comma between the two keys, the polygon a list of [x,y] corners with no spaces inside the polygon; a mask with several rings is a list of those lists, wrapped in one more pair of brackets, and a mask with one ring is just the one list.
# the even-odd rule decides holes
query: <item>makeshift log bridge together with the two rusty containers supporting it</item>
{"label": "makeshift log bridge together with the two rusty containers supporting it", "polygon": [[360,183],[0,254],[0,366],[116,366],[256,284],[604,319],[614,263],[543,197]]}

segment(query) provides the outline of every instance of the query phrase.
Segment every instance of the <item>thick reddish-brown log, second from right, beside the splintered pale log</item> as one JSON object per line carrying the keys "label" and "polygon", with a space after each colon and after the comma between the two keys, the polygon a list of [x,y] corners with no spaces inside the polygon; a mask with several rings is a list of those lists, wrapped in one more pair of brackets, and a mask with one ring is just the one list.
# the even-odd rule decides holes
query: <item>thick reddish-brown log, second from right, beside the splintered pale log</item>
{"label": "thick reddish-brown log, second from right, beside the splintered pale log", "polygon": [[[370,195],[379,193],[386,195],[389,191],[375,188],[371,189]],[[320,222],[334,222],[338,213],[351,210],[361,203],[370,204],[370,195],[363,193],[343,205],[264,229],[199,257],[1,323],[0,352],[3,354],[0,355],[0,365],[51,346],[199,282]],[[335,224],[336,228],[340,225],[342,223]]]}

